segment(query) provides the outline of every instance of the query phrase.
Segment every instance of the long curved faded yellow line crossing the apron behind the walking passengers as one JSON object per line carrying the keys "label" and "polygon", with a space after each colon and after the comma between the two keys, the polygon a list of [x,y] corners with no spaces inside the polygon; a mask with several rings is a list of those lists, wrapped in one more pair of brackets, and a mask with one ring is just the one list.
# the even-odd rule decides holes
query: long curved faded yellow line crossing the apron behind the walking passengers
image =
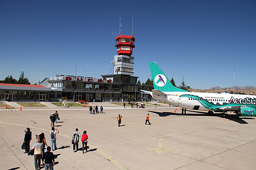
{"label": "long curved faded yellow line crossing the apron behind the walking passengers", "polygon": [[[0,122],[0,123],[4,123],[4,122]],[[32,127],[32,126],[27,126],[27,125],[19,125],[19,124],[14,124],[14,123],[4,123],[4,124],[10,124],[10,125],[18,125],[18,126],[25,126],[25,127],[31,127],[31,128],[35,128],[35,129],[40,129],[40,130],[44,130],[44,131],[48,131],[46,129],[41,129],[38,127]],[[67,136],[65,134],[61,134],[62,136],[66,136],[68,138],[72,138],[70,136]],[[88,145],[90,148],[92,149],[96,149],[95,147],[93,147],[92,145]],[[126,168],[124,168],[124,166],[122,166],[121,164],[119,164],[115,159],[113,159],[111,156],[107,155],[106,153],[102,152],[100,149],[97,149],[96,151],[98,151],[98,153],[102,154],[104,157],[106,157],[108,160],[110,160],[111,162],[113,162],[113,164],[115,164],[120,170],[127,170]]]}

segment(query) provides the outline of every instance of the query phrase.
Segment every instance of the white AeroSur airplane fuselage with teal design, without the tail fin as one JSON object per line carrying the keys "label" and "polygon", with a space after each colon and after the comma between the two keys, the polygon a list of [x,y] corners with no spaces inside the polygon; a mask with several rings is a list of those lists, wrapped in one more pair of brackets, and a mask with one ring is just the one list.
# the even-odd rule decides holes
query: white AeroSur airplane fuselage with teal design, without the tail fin
{"label": "white AeroSur airplane fuselage with teal design, without the tail fin", "polygon": [[[151,96],[165,103],[194,110],[219,110],[218,108],[230,106],[249,106],[256,108],[256,96],[240,94],[212,94],[199,92],[162,91],[166,96]],[[230,108],[226,110],[237,110]]]}

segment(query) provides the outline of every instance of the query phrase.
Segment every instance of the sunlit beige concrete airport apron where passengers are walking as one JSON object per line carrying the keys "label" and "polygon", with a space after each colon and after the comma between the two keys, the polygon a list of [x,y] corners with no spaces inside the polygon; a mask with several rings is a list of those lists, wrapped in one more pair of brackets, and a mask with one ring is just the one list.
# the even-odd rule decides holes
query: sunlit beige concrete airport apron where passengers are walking
{"label": "sunlit beige concrete airport apron where passengers are walking", "polygon": [[[168,106],[168,105],[167,105]],[[89,114],[88,109],[59,110],[56,123],[55,170],[254,170],[256,167],[256,117],[239,118],[181,108],[149,106],[142,108],[105,107],[104,113]],[[27,127],[35,134],[46,134],[50,145],[50,115],[53,109],[0,108],[0,170],[34,170],[34,157],[21,149]],[[80,107],[79,107],[80,109]],[[3,111],[4,110],[4,111]],[[150,114],[151,125],[145,125]],[[118,127],[117,115],[122,115]],[[73,152],[71,137],[75,129],[89,136],[87,153]],[[44,168],[41,168],[44,169]]]}

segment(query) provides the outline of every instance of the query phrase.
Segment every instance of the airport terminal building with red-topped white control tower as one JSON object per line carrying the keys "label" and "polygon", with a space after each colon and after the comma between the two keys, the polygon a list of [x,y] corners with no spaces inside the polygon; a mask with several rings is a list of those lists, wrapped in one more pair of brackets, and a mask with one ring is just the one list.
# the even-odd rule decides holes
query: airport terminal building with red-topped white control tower
{"label": "airport terminal building with red-topped white control tower", "polygon": [[[126,95],[134,95],[136,101],[151,101],[153,85],[137,85],[139,77],[133,76],[135,48],[133,36],[119,35],[115,38],[117,55],[114,56],[113,74],[101,75],[102,78],[72,75],[56,75],[44,79],[39,85],[0,84],[0,100],[61,102],[66,97],[68,102],[89,100],[89,102],[124,102]],[[133,102],[135,99],[132,100]]]}

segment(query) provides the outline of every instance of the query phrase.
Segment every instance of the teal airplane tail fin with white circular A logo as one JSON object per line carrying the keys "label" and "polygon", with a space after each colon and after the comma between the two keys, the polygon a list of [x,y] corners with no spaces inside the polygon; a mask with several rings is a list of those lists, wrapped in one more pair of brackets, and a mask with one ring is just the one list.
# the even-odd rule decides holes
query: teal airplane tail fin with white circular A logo
{"label": "teal airplane tail fin with white circular A logo", "polygon": [[154,89],[159,91],[185,91],[171,84],[156,62],[149,62]]}

